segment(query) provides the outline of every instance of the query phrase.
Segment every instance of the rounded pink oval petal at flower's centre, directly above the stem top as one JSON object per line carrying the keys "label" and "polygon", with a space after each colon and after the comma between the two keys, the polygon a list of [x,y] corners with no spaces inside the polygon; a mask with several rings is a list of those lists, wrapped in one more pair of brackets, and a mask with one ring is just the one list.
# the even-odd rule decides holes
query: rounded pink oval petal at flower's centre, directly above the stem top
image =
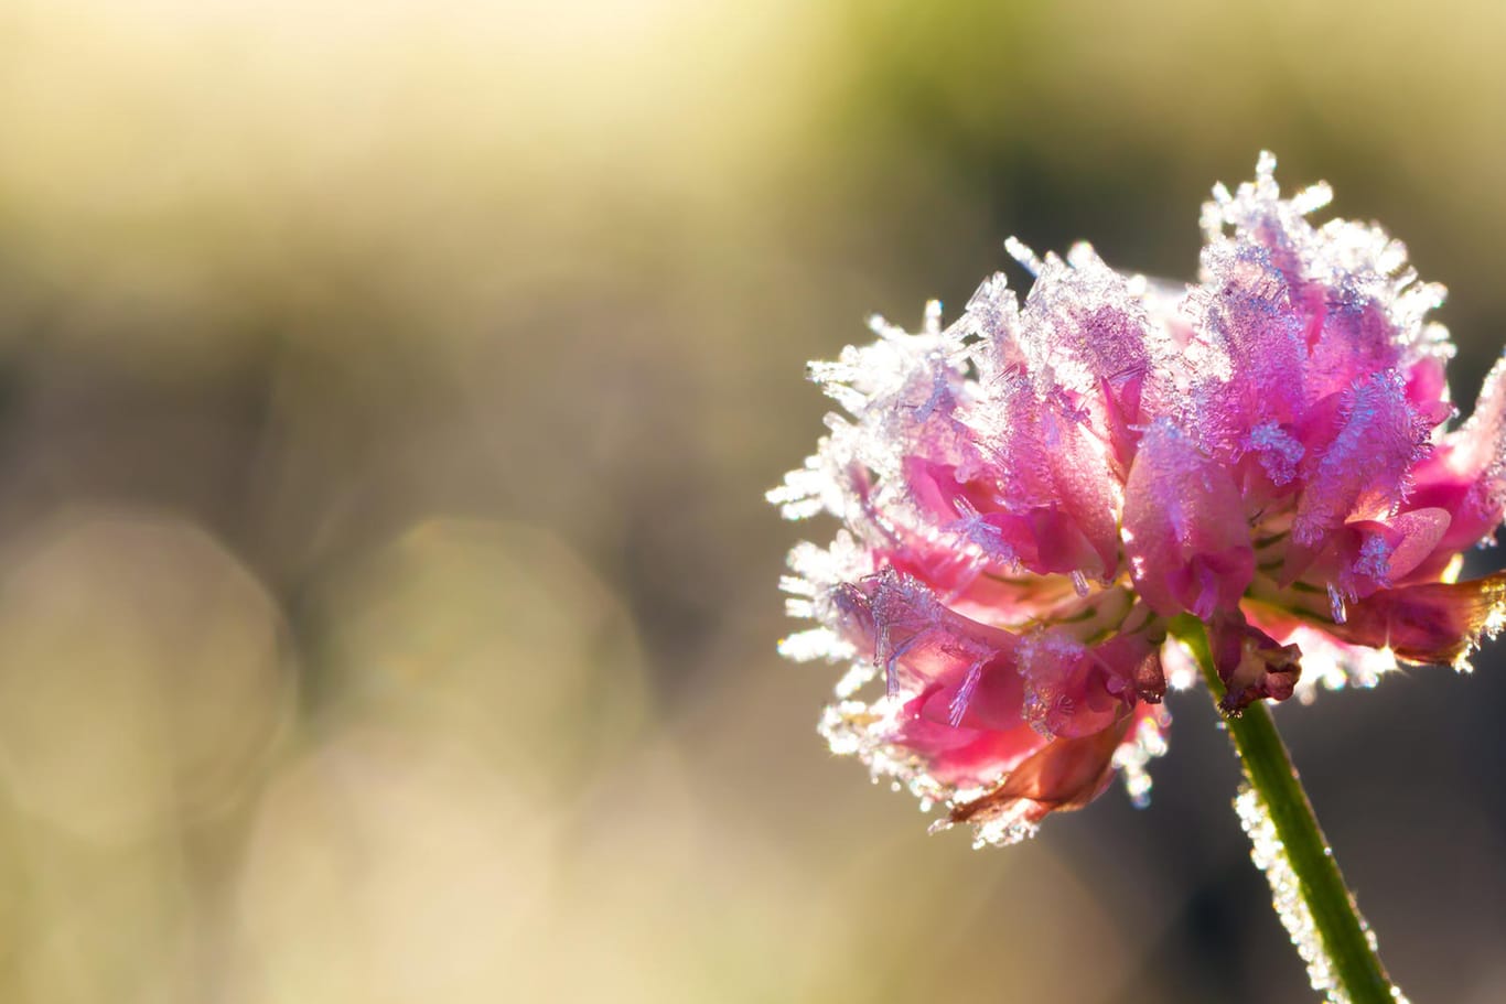
{"label": "rounded pink oval petal at flower's centre, directly above the stem top", "polygon": [[1125,485],[1125,549],[1155,613],[1208,619],[1233,608],[1254,573],[1244,506],[1229,473],[1169,420],[1140,443]]}

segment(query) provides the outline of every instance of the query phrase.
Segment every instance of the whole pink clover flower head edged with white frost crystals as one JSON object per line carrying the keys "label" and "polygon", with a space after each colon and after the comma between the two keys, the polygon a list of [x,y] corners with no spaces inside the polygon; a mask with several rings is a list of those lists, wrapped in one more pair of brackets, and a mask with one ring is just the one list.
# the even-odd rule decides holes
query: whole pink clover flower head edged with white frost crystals
{"label": "whole pink clover flower head edged with white frost crystals", "polygon": [[[1202,281],[1087,245],[1001,274],[943,328],[873,322],[812,376],[846,415],[770,492],[834,515],[791,554],[792,658],[851,664],[821,730],[980,841],[1029,835],[1116,772],[1149,789],[1178,617],[1208,626],[1224,710],[1465,668],[1506,575],[1456,583],[1506,510],[1506,361],[1455,431],[1443,289],[1276,160],[1203,208]],[[1306,665],[1304,665],[1306,662]],[[1182,673],[1185,676],[1185,673]]]}

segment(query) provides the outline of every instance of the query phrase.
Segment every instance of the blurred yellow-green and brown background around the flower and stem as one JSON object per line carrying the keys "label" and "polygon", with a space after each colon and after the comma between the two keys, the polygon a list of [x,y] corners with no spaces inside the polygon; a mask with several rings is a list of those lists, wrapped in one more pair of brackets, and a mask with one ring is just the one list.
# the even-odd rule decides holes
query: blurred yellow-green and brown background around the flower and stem
{"label": "blurred yellow-green and brown background around the flower and stem", "polygon": [[[807,358],[1282,157],[1506,342],[1506,8],[9,0],[0,999],[1310,999],[1200,694],[974,852],[830,757]],[[1015,274],[1020,278],[1018,274]],[[950,312],[949,312],[950,316]],[[1480,555],[1476,572],[1498,561]],[[1419,1004],[1506,998],[1506,667],[1280,718]]]}

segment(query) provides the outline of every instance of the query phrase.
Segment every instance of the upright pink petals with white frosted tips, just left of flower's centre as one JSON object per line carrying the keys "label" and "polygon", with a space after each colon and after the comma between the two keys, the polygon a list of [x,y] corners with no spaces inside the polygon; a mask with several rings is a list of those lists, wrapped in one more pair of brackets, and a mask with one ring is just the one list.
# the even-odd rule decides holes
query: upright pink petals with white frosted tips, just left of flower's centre
{"label": "upright pink petals with white frosted tips, just left of flower's centre", "polygon": [[994,486],[994,509],[1020,522],[1026,567],[1108,581],[1143,385],[1175,352],[1145,284],[1087,245],[1038,266],[1023,309],[997,278],[968,304],[967,330],[983,337],[973,346],[977,388],[958,417],[980,461],[959,464],[956,480]]}

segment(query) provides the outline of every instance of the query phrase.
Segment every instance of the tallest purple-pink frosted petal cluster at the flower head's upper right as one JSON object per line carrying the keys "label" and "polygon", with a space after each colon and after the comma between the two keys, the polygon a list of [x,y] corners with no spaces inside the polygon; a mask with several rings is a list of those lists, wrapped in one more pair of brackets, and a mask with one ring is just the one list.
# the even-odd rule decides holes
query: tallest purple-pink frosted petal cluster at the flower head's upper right
{"label": "tallest purple-pink frosted petal cluster at the flower head's upper right", "polygon": [[1452,414],[1452,348],[1425,319],[1443,289],[1417,281],[1405,247],[1373,226],[1315,227],[1327,187],[1282,199],[1274,166],[1262,155],[1254,182],[1205,206],[1203,281],[1185,310],[1226,372],[1193,388],[1182,421],[1215,459],[1250,458],[1235,473],[1253,507],[1301,491],[1295,536],[1315,546],[1405,498],[1420,444]]}

